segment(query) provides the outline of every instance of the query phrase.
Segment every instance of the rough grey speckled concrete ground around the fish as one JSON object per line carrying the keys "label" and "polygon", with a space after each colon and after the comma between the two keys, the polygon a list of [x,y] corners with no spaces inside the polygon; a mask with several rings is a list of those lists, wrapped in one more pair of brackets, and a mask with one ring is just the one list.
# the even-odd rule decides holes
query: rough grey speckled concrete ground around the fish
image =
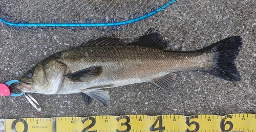
{"label": "rough grey speckled concrete ground around the fish", "polygon": [[[168,27],[168,32],[160,32],[172,50],[181,51],[201,49],[228,36],[242,36],[243,46],[236,59],[242,77],[239,82],[228,82],[201,71],[180,71],[175,82],[176,95],[170,95],[150,82],[105,89],[111,96],[109,109],[96,101],[86,107],[79,93],[31,93],[44,110],[39,117],[255,114],[255,12],[254,0],[208,1],[193,15]],[[0,23],[0,81],[18,79],[50,54],[74,48],[93,39],[92,36],[97,36],[97,31],[74,32],[63,28],[14,30]],[[25,96],[0,97],[0,118],[29,118],[36,115],[37,111]]]}

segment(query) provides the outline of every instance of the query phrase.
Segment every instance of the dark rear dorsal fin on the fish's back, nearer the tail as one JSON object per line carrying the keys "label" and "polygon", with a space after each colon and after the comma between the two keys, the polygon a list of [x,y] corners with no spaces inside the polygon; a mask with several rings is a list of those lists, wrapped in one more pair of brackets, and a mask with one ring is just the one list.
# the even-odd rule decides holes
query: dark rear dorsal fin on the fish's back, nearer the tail
{"label": "dark rear dorsal fin on the fish's back, nearer the tail", "polygon": [[162,39],[162,37],[158,32],[153,32],[153,31],[155,30],[152,28],[148,29],[145,35],[141,36],[137,41],[131,44],[168,50],[169,45],[167,44],[167,42]]}

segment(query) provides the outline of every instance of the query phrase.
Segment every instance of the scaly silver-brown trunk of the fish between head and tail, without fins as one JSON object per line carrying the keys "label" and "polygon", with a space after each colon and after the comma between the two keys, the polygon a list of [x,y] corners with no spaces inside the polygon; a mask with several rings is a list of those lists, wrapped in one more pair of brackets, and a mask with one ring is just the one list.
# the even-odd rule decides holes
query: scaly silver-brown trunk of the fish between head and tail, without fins
{"label": "scaly silver-brown trunk of the fish between head and tail, without fins", "polygon": [[[168,52],[135,45],[79,47],[74,50],[61,52],[60,58],[57,59],[67,65],[69,72],[102,66],[102,73],[100,77],[92,77],[93,79],[82,82],[65,78],[57,94],[148,82],[170,72],[203,70],[211,66],[211,60],[203,52]],[[76,55],[70,55],[71,52],[75,52]],[[149,54],[144,56],[147,52]]]}

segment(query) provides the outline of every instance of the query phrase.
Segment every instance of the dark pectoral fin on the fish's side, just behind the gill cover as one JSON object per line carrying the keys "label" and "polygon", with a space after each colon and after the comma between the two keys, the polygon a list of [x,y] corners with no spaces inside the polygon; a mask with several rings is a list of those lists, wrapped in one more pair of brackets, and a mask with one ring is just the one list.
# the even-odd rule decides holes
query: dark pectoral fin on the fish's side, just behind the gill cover
{"label": "dark pectoral fin on the fish's side, just behind the gill cover", "polygon": [[93,66],[68,74],[66,77],[75,82],[84,82],[95,79],[102,73],[102,66]]}

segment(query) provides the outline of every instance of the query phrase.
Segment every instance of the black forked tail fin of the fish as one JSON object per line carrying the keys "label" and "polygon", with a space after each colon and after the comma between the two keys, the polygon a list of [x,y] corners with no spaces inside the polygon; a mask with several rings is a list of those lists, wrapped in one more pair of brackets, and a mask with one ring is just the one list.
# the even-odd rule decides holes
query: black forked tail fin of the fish
{"label": "black forked tail fin of the fish", "polygon": [[231,36],[204,48],[212,53],[212,67],[205,72],[231,82],[240,81],[241,77],[234,60],[242,47],[241,36]]}

